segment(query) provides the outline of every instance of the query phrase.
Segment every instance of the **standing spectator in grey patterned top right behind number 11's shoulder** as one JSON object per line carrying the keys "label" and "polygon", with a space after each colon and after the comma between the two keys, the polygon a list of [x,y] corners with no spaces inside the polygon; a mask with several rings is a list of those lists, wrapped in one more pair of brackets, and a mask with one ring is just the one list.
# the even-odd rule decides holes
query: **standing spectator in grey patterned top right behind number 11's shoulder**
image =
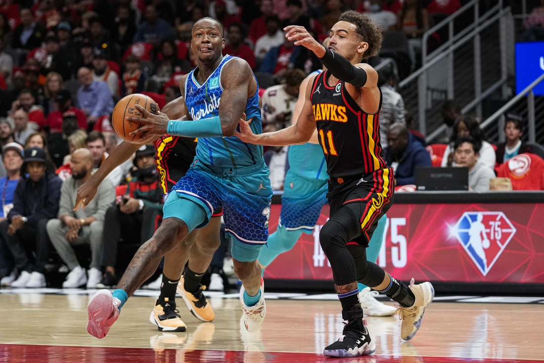
{"label": "standing spectator in grey patterned top right behind number 11's shoulder", "polygon": [[378,87],[381,89],[382,102],[380,111],[380,141],[381,147],[387,147],[387,131],[389,126],[400,123],[406,124],[404,117],[404,100],[396,90],[397,75],[390,63],[378,71]]}

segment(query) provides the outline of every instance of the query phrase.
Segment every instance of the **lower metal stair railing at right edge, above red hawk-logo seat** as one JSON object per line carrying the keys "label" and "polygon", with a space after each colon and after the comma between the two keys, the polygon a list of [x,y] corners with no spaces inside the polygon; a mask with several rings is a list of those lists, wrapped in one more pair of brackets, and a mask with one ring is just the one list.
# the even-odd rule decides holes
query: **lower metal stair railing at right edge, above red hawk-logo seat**
{"label": "lower metal stair railing at right edge, above red hawk-logo seat", "polygon": [[528,136],[530,142],[536,142],[536,118],[535,118],[535,94],[533,89],[544,80],[544,74],[536,78],[529,86],[523,89],[518,93],[514,98],[508,101],[503,107],[500,107],[495,113],[493,113],[489,118],[487,118],[483,123],[480,124],[480,129],[485,130],[489,126],[493,125],[495,120],[499,120],[497,123],[498,128],[498,141],[502,142],[505,139],[504,136],[504,112],[509,111],[514,107],[520,100],[522,100],[527,95],[527,106],[523,105],[523,108],[527,110],[527,126],[528,126]]}

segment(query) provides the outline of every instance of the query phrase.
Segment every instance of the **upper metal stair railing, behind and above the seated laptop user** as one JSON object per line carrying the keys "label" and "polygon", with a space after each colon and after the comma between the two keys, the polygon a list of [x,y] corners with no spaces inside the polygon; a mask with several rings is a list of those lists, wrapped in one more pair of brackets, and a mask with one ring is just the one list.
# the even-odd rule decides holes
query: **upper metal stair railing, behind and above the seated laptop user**
{"label": "upper metal stair railing, behind and above the seated laptop user", "polygon": [[[452,29],[453,29],[453,21],[454,19],[459,16],[463,11],[467,10],[470,7],[474,7],[474,22],[472,25],[468,26],[467,28],[463,29],[458,34],[454,34],[453,36],[450,36],[448,41],[443,44],[441,47],[439,47],[437,50],[433,51],[432,53],[424,56],[424,65],[422,68],[418,69],[417,71],[413,72],[410,76],[406,77],[403,81],[399,83],[399,92],[403,97],[405,98],[405,104],[407,105],[407,109],[412,112],[412,114],[417,114],[417,120],[419,125],[419,132],[421,132],[423,135],[426,135],[429,131],[429,136],[426,137],[426,140],[429,142],[436,138],[436,136],[440,135],[441,132],[444,131],[445,126],[440,126],[437,124],[437,120],[440,117],[440,114],[438,114],[438,109],[436,106],[432,105],[432,101],[435,100],[433,98],[433,94],[446,94],[446,99],[453,100],[456,96],[456,87],[455,87],[455,78],[454,77],[460,77],[461,75],[466,76],[467,75],[467,69],[462,69],[461,72],[454,72],[454,61],[455,61],[455,55],[454,52],[458,51],[460,47],[467,44],[469,41],[472,40],[472,47],[468,50],[470,52],[473,52],[473,61],[471,63],[473,65],[473,80],[467,80],[466,82],[463,82],[463,89],[458,90],[459,94],[462,94],[465,98],[468,98],[465,102],[465,105],[462,107],[463,112],[469,112],[471,110],[475,109],[475,113],[477,116],[481,117],[482,110],[481,110],[481,102],[484,98],[490,96],[492,93],[496,92],[499,88],[503,87],[503,96],[505,95],[505,83],[508,78],[508,68],[507,68],[507,62],[508,62],[508,54],[507,54],[507,29],[506,29],[506,17],[511,16],[511,9],[510,7],[507,7],[505,9],[502,9],[502,0],[499,0],[499,4],[495,7],[491,8],[489,11],[487,11],[482,16],[478,16],[478,3],[479,0],[473,0],[469,2],[467,5],[465,5],[460,10],[456,11],[452,16],[448,17],[446,20],[438,23],[435,27],[432,27],[429,29],[428,32],[426,32],[424,35],[424,40],[429,37],[429,34],[432,34],[432,32],[436,31],[437,28],[440,28],[441,26],[448,25],[450,28],[450,35],[452,35]],[[490,27],[494,26],[494,24],[498,22],[498,33],[499,33],[499,40],[498,45],[496,48],[499,48],[499,62],[500,62],[500,76],[498,80],[486,80],[487,87],[484,89],[483,87],[483,81],[482,81],[482,59],[481,59],[481,47],[484,46],[481,44],[480,41],[480,33],[487,31],[490,32]],[[495,41],[497,41],[495,29],[492,29],[491,32],[491,38],[494,38]],[[484,42],[485,43],[485,42]],[[486,44],[486,46],[489,45]],[[466,47],[465,47],[466,48]],[[496,48],[492,48],[490,51],[494,52]],[[423,45],[423,49],[425,49],[425,44]],[[463,55],[467,54],[467,49],[465,49],[465,53]],[[444,59],[448,59],[447,62],[442,62],[441,64],[438,64],[439,62],[443,61]],[[487,59],[486,61],[487,62]],[[428,80],[431,79],[428,76],[428,73],[430,71],[436,71],[437,69],[443,73],[444,64],[446,66],[446,78],[447,78],[447,86],[446,92],[435,92],[436,90],[429,86]],[[486,67],[484,67],[485,71],[489,74],[489,64],[485,64]],[[435,68],[434,68],[435,67]],[[496,67],[498,68],[498,67]],[[469,69],[468,69],[469,70]],[[472,77],[472,75],[471,75]],[[473,90],[469,90],[469,92],[466,90],[466,86],[468,84],[474,83]],[[443,85],[441,84],[443,87]],[[460,87],[459,87],[460,88]],[[434,92],[434,93],[433,93]],[[467,95],[470,93],[470,95]],[[472,95],[473,93],[473,95]],[[417,112],[415,112],[417,109]],[[434,118],[433,121],[434,125],[429,125],[428,128],[428,122],[427,122],[427,113],[428,111],[431,112],[431,117]],[[434,126],[434,127],[431,127]]]}

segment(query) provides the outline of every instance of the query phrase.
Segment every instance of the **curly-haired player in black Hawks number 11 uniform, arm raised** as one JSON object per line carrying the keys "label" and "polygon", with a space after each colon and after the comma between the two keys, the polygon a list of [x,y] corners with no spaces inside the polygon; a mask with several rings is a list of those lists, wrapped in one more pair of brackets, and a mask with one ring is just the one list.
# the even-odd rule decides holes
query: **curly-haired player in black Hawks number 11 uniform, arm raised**
{"label": "curly-haired player in black Hawks number 11 uniform, arm raised", "polygon": [[393,202],[393,170],[380,147],[381,91],[378,74],[361,63],[378,54],[381,32],[366,15],[347,11],[330,31],[325,49],[304,27],[284,29],[288,40],[318,56],[326,71],[314,77],[306,89],[306,101],[298,122],[287,129],[254,135],[240,120],[237,134],[245,142],[283,146],[307,142],[318,129],[319,143],[329,173],[330,219],[319,234],[332,267],[345,320],[343,336],[326,347],[327,356],[372,354],[358,301],[357,281],[386,294],[400,304],[401,337],[410,340],[421,326],[425,307],[434,297],[429,282],[406,286],[366,259],[366,247],[378,220]]}

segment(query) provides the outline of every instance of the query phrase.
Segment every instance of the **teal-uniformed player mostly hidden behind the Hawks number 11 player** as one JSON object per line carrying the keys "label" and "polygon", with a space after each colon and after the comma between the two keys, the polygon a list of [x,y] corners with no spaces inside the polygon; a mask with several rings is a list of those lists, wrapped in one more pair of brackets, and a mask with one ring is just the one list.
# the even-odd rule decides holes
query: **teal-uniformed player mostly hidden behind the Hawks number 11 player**
{"label": "teal-uniformed player mostly hidden behind the Hawks number 11 player", "polygon": [[[325,41],[325,44],[328,41]],[[322,71],[315,71],[308,75],[300,84],[299,99],[296,101],[293,112],[293,125],[299,118],[304,106],[305,92],[311,78]],[[283,252],[290,251],[302,233],[313,233],[313,228],[319,219],[323,205],[327,203],[327,180],[323,149],[317,140],[317,131],[310,141],[305,144],[289,147],[287,154],[289,170],[285,176],[285,187],[281,199],[281,214],[276,232],[270,234],[265,247],[259,252],[259,264],[264,269]],[[378,222],[372,239],[368,243],[367,259],[375,262],[378,259],[381,245],[384,241],[384,232],[387,217],[384,215]],[[358,283],[359,299],[364,312],[370,316],[392,316],[397,308],[383,304],[375,299],[376,292]]]}

